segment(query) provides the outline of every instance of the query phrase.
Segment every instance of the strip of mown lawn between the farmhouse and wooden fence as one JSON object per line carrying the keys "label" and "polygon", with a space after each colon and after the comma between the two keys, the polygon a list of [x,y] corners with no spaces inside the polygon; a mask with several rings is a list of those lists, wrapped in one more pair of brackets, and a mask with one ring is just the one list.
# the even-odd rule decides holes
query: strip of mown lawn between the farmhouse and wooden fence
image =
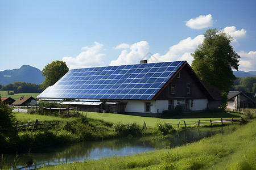
{"label": "strip of mown lawn between the farmhouse and wooden fence", "polygon": [[[85,112],[83,113],[85,115]],[[177,128],[177,125],[180,122],[180,126],[184,126],[184,121],[186,121],[187,126],[194,126],[195,123],[200,120],[200,122],[207,121],[208,125],[209,120],[216,120],[222,118],[232,118],[232,117],[240,117],[235,113],[227,113],[227,112],[208,112],[208,113],[189,113],[184,114],[182,116],[175,116],[173,118],[155,118],[155,117],[141,117],[141,116],[131,116],[126,114],[114,114],[114,113],[94,113],[88,112],[87,117],[104,120],[106,122],[110,122],[114,124],[115,122],[122,122],[123,124],[129,124],[135,122],[139,126],[143,126],[144,121],[148,128],[155,128],[156,123],[167,122],[172,124],[174,128]],[[202,124],[205,125],[205,124]]]}

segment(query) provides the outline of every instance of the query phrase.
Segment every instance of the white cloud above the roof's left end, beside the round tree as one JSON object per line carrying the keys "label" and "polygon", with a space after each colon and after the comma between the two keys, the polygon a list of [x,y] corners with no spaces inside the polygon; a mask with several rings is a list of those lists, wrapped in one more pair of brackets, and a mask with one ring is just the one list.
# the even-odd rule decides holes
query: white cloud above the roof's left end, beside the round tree
{"label": "white cloud above the roof's left end, beside the round tree", "polygon": [[102,57],[105,54],[100,53],[103,45],[98,42],[94,42],[94,44],[92,47],[84,46],[81,48],[82,52],[78,56],[63,57],[62,60],[67,63],[69,69],[104,66]]}

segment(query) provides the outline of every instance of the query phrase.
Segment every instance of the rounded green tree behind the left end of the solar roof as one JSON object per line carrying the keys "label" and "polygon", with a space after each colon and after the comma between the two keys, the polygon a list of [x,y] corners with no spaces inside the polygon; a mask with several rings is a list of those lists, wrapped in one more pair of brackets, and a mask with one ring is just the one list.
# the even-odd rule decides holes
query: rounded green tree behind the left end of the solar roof
{"label": "rounded green tree behind the left end of the solar roof", "polygon": [[48,86],[55,84],[63,75],[69,71],[64,61],[53,61],[47,64],[42,70],[42,75],[46,77],[40,89],[44,90]]}

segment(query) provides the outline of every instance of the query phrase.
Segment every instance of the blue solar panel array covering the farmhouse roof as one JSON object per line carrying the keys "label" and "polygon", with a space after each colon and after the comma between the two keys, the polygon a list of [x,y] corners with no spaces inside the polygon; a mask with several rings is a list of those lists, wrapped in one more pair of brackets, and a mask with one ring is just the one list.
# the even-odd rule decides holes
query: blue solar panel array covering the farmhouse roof
{"label": "blue solar panel array covering the farmhouse roof", "polygon": [[150,100],[184,62],[73,69],[38,97]]}

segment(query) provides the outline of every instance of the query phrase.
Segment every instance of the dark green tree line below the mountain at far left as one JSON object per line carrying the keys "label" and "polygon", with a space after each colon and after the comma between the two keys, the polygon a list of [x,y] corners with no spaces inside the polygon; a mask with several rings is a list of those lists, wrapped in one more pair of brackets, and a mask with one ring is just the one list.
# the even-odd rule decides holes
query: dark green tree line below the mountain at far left
{"label": "dark green tree line below the mountain at far left", "polygon": [[35,83],[26,83],[26,82],[14,82],[2,86],[2,90],[5,91],[14,91],[15,94],[20,93],[40,93],[42,90],[39,90],[41,86]]}

